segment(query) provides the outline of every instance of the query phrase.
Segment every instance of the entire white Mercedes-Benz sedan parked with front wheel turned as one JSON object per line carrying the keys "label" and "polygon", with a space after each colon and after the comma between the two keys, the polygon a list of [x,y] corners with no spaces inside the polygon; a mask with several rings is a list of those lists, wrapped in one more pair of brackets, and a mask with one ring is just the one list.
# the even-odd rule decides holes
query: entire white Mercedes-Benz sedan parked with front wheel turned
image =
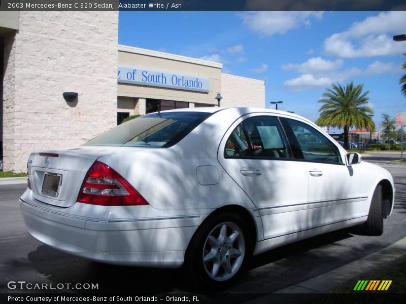
{"label": "entire white Mercedes-Benz sedan parked with front wheel turned", "polygon": [[263,108],[161,111],[28,159],[28,232],[83,258],[183,266],[224,288],[253,255],[358,225],[381,235],[390,173],[307,119]]}

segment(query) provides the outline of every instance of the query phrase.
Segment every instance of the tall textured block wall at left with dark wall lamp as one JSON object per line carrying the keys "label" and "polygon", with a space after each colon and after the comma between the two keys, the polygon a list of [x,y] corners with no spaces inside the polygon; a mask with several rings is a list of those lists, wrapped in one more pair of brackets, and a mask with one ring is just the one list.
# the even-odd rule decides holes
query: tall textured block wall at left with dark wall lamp
{"label": "tall textured block wall at left with dark wall lamp", "polygon": [[[24,12],[5,36],[4,170],[116,125],[118,12]],[[62,92],[78,92],[66,102]]]}

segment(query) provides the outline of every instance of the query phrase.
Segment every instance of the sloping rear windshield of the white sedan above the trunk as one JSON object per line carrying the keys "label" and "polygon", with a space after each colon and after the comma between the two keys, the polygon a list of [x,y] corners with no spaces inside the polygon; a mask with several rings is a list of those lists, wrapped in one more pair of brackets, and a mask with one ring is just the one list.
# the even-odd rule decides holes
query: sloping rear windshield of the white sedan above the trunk
{"label": "sloping rear windshield of the white sedan above the trunk", "polygon": [[130,120],[84,145],[126,147],[170,147],[179,142],[212,113],[163,112]]}

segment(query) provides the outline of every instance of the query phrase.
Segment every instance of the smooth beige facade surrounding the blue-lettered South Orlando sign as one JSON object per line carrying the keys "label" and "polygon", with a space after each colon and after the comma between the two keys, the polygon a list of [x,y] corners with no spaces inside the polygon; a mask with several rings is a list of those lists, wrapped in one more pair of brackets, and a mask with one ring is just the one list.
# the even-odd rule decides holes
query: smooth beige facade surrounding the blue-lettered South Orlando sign
{"label": "smooth beige facade surrounding the blue-lettered South Orlando sign", "polygon": [[[137,102],[140,102],[137,100],[138,98],[141,98],[141,101],[146,98],[152,98],[207,105],[217,104],[215,97],[217,93],[221,93],[222,88],[221,68],[223,65],[221,63],[127,46],[119,46],[118,50],[118,65],[179,72],[209,79],[208,93],[119,83],[119,103],[121,103],[121,100],[124,100],[122,97],[132,97],[136,98],[136,108],[138,109],[142,109],[141,104],[137,107]],[[145,114],[145,112],[140,113]]]}

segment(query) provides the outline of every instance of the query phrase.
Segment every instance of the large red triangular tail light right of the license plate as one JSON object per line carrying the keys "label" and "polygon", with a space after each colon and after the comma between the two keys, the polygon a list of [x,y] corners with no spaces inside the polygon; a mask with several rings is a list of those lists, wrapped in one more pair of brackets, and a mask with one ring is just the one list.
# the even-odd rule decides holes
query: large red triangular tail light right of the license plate
{"label": "large red triangular tail light right of the license plate", "polygon": [[77,201],[104,206],[148,205],[120,174],[98,161],[87,171]]}

